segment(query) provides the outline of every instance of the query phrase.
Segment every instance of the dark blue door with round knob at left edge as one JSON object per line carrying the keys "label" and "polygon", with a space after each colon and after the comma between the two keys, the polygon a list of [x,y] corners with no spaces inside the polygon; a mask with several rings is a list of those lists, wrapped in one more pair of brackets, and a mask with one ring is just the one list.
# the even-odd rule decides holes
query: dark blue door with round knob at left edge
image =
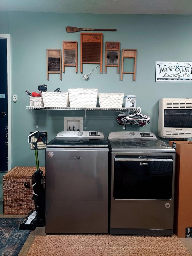
{"label": "dark blue door with round knob at left edge", "polygon": [[8,166],[7,38],[0,38],[0,171]]}

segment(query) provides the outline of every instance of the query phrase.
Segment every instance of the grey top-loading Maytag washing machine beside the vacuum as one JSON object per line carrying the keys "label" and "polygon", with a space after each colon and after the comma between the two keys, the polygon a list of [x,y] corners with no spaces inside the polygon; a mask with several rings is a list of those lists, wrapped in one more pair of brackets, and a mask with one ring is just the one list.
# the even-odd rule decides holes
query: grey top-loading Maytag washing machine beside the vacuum
{"label": "grey top-loading Maytag washing machine beside the vacuum", "polygon": [[104,134],[61,131],[45,150],[46,233],[108,233]]}

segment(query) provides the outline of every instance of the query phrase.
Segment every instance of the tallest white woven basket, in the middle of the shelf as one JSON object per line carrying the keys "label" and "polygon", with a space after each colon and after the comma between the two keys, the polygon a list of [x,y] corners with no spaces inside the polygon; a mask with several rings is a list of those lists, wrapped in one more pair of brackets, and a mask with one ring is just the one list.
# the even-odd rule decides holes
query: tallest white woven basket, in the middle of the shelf
{"label": "tallest white woven basket, in the middle of the shelf", "polygon": [[70,107],[96,107],[98,89],[68,89]]}

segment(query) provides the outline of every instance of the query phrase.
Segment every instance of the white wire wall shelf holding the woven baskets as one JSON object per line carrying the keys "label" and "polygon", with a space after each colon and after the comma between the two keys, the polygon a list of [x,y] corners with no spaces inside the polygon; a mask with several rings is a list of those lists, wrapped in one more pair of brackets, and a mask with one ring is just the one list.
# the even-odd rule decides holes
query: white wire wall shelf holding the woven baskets
{"label": "white wire wall shelf holding the woven baskets", "polygon": [[140,107],[31,107],[26,106],[26,109],[42,109],[42,110],[124,110],[135,111],[141,110]]}

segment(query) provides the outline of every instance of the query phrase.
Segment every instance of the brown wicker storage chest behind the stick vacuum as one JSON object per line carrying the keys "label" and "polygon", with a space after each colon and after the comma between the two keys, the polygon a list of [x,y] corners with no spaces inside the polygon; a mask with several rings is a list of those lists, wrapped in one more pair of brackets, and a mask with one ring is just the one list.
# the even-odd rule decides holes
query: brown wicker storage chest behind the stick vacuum
{"label": "brown wicker storage chest behind the stick vacuum", "polygon": [[[45,188],[45,167],[43,185]],[[27,215],[35,210],[32,189],[32,175],[36,167],[14,167],[3,175],[3,213],[4,215]],[[29,182],[30,187],[25,187]]]}

